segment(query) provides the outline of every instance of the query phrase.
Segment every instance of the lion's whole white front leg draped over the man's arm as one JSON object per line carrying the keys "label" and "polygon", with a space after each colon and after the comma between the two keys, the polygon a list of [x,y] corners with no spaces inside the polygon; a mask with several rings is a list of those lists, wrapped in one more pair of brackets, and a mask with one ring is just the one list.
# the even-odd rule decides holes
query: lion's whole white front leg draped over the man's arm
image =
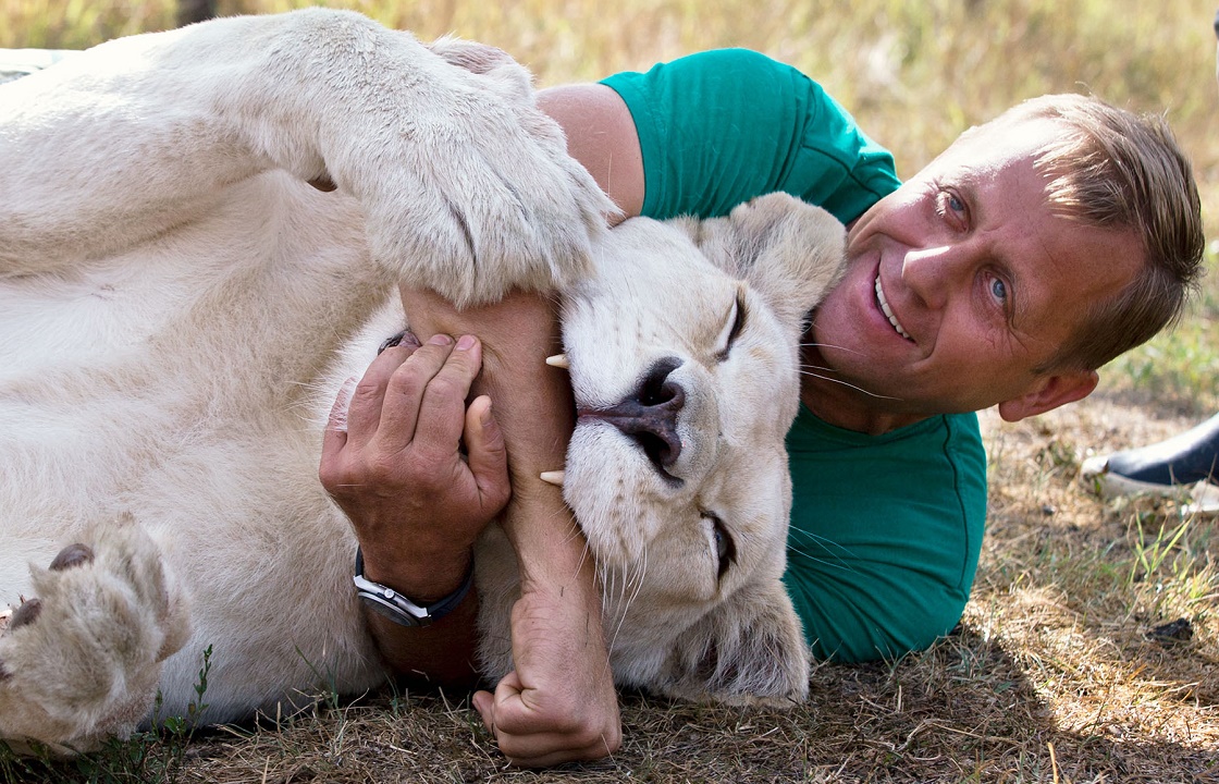
{"label": "lion's whole white front leg draped over the man's arm", "polygon": [[613,208],[502,52],[311,9],[119,39],[0,88],[0,274],[129,250],[269,169],[354,195],[386,272],[458,305],[583,278]]}

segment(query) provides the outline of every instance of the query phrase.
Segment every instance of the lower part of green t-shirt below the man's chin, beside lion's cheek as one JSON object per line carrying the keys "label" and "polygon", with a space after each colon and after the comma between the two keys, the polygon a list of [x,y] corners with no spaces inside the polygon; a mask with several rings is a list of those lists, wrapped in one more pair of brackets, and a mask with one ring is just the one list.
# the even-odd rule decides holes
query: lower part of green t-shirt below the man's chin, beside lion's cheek
{"label": "lower part of green t-shirt below the man's chin, beside lion's cheek", "polygon": [[787,594],[818,658],[926,647],[961,618],[986,517],[986,455],[973,413],[884,435],[801,407],[787,433],[794,501]]}

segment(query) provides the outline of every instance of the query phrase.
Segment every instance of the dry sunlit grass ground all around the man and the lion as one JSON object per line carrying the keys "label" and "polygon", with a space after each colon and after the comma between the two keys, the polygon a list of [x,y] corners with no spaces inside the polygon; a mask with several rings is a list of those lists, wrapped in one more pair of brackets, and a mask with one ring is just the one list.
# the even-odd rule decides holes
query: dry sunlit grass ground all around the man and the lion
{"label": "dry sunlit grass ground all around the man and the lion", "polygon": [[[286,0],[221,0],[221,13]],[[496,44],[540,85],[747,46],[820,80],[913,173],[961,130],[1052,91],[1163,113],[1219,240],[1214,2],[1199,0],[421,0],[329,2],[421,38]],[[0,46],[84,48],[174,24],[166,0],[0,0]],[[608,762],[530,780],[1219,782],[1213,521],[1175,501],[1103,502],[1089,450],[1219,410],[1219,241],[1179,328],[1103,372],[1093,400],[1006,426],[984,416],[991,523],[959,634],[901,662],[825,666],[809,706],[739,715],[628,697]],[[1190,640],[1153,639],[1179,618]],[[405,707],[403,707],[405,706]],[[410,708],[410,710],[407,710]],[[477,715],[440,700],[323,704],[280,730],[147,736],[100,762],[0,779],[500,780]],[[154,763],[161,760],[160,763]],[[162,764],[163,763],[163,764]],[[160,764],[160,767],[157,767]]]}

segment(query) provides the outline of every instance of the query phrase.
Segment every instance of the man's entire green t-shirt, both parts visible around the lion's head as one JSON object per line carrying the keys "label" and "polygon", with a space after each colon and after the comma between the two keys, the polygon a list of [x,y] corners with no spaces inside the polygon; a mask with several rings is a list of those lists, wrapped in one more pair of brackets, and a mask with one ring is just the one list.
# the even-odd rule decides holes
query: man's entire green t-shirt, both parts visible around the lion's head
{"label": "man's entire green t-shirt, both parts visible around the lion's head", "polygon": [[[644,155],[642,213],[714,217],[781,190],[844,223],[895,190],[892,156],[816,82],[741,49],[605,79]],[[801,408],[787,435],[795,502],[784,582],[819,658],[930,645],[961,617],[986,516],[972,413],[873,437]]]}

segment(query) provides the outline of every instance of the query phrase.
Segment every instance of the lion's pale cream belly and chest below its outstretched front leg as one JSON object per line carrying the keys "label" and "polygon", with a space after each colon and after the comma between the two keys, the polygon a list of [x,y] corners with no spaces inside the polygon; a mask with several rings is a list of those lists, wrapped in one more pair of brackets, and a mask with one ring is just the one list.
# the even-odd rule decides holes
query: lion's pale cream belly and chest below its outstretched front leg
{"label": "lion's pale cream belly and chest below its outstretched front leg", "polygon": [[166,716],[185,715],[207,647],[207,721],[245,715],[251,695],[274,711],[380,679],[350,584],[355,538],[317,461],[333,379],[371,354],[344,345],[388,288],[352,215],[332,202],[317,216],[280,180],[249,188],[316,218],[285,232],[290,248],[268,208],[230,204],[115,268],[54,288],[0,279],[0,606],[30,594],[29,563],[130,513],[190,602],[193,635],[162,672]]}

